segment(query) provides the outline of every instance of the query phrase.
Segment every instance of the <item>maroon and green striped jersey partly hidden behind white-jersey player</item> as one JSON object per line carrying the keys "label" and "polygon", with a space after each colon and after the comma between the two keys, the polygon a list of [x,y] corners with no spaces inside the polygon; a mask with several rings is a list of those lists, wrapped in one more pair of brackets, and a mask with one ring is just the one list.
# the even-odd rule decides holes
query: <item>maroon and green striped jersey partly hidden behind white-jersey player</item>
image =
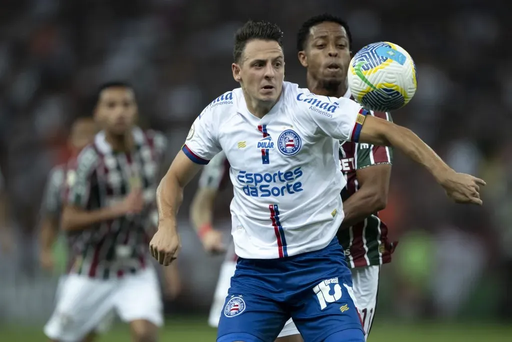
{"label": "maroon and green striped jersey partly hidden behind white-jersey player", "polygon": [[[370,112],[376,117],[392,121],[389,113]],[[389,147],[352,142],[340,142],[339,165],[347,180],[342,190],[342,200],[359,189],[356,171],[378,164],[392,164],[393,150]],[[391,261],[393,246],[388,241],[388,227],[374,213],[362,222],[338,230],[337,237],[343,246],[349,267],[382,265]]]}

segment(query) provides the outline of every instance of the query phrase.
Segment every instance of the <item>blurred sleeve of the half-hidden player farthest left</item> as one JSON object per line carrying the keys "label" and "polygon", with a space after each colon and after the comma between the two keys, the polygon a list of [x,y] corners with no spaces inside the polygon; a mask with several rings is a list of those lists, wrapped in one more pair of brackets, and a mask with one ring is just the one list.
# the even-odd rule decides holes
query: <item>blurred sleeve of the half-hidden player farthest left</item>
{"label": "blurred sleeve of the half-hidden player farthest left", "polygon": [[41,215],[53,217],[60,215],[65,177],[66,172],[62,167],[56,167],[50,171],[42,198]]}

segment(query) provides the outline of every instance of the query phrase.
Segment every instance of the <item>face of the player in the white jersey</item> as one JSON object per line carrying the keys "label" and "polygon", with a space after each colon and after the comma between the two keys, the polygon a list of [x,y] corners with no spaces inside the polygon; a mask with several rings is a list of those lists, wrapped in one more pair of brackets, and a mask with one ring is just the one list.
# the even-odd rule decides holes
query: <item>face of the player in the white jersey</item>
{"label": "face of the player in the white jersey", "polygon": [[274,103],[283,88],[285,62],[278,42],[254,39],[245,45],[240,64],[233,63],[233,77],[253,99]]}

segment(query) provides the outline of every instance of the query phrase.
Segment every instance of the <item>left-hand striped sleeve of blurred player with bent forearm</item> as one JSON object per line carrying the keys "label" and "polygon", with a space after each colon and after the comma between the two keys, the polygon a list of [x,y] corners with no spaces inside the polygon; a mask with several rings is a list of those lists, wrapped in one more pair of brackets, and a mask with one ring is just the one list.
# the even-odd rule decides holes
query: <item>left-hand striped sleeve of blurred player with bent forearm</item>
{"label": "left-hand striped sleeve of blurred player with bent forearm", "polygon": [[70,168],[66,175],[69,205],[87,208],[98,162],[99,156],[93,148],[85,148],[78,155],[75,167]]}

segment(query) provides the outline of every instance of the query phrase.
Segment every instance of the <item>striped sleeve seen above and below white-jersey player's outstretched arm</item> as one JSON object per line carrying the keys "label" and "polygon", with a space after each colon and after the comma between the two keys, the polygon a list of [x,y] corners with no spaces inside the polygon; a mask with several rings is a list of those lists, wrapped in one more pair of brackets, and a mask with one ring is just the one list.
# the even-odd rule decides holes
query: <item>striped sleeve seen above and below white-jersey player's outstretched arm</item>
{"label": "striped sleeve seen above and below white-jersey player's outstretched arm", "polygon": [[[373,115],[381,119],[393,122],[390,113],[384,112],[370,112],[368,115]],[[357,144],[356,155],[356,169],[363,169],[368,166],[377,164],[392,164],[393,163],[393,148],[387,146],[376,146],[370,144]]]}

